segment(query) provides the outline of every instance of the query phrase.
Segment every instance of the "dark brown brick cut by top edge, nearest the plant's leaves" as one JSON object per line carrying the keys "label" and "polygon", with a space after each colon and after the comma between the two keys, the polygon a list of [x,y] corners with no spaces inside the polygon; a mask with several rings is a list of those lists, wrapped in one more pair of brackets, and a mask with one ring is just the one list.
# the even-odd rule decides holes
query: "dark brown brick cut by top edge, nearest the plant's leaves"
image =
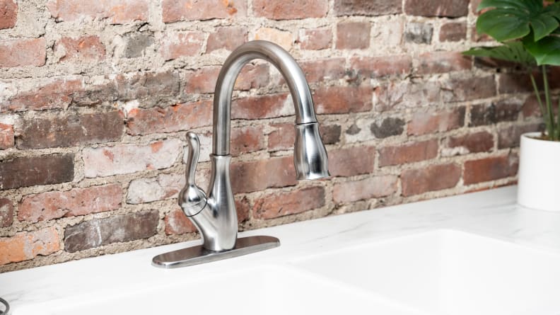
{"label": "dark brown brick cut by top edge, nearest the plant's leaves", "polygon": [[458,18],[469,13],[469,0],[406,0],[404,12],[411,16]]}

